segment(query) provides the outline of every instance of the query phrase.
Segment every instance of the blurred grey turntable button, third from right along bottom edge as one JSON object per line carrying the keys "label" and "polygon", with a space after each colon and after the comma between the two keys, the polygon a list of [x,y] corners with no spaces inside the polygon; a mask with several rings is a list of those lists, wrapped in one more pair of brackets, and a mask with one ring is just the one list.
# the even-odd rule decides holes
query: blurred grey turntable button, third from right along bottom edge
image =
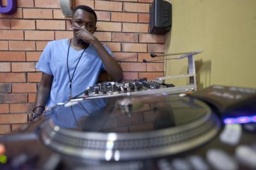
{"label": "blurred grey turntable button, third from right along bottom edge", "polygon": [[210,169],[204,159],[197,155],[192,155],[188,157],[188,162],[191,164],[195,170],[208,170]]}

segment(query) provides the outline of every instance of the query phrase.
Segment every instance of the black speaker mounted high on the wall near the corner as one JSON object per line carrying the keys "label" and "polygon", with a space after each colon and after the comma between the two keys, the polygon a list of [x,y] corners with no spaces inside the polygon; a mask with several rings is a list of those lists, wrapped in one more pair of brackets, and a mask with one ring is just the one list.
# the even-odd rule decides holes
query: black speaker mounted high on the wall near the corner
{"label": "black speaker mounted high on the wall near the corner", "polygon": [[149,30],[153,34],[164,34],[172,26],[172,4],[163,0],[154,0],[150,7]]}

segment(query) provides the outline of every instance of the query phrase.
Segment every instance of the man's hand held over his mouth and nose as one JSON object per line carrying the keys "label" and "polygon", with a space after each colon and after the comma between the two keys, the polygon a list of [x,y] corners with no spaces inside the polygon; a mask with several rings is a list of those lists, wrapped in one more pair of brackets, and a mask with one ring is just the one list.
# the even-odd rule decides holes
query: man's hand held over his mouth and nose
{"label": "man's hand held over his mouth and nose", "polygon": [[75,31],[77,40],[80,39],[86,43],[91,43],[93,40],[95,40],[93,34],[83,27],[72,27],[72,29]]}

